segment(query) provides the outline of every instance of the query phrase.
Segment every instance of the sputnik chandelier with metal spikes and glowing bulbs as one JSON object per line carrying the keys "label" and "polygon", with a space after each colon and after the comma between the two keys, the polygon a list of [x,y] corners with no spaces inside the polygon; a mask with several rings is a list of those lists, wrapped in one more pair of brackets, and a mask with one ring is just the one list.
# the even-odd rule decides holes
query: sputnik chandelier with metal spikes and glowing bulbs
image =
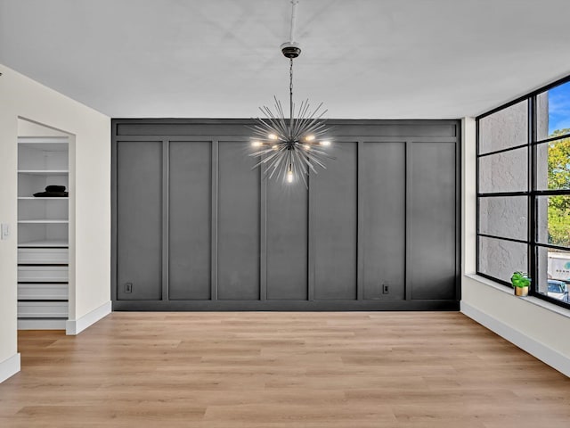
{"label": "sputnik chandelier with metal spikes and glowing bulbs", "polygon": [[298,0],[291,0],[291,29],[289,42],[281,45],[281,53],[289,58],[289,119],[285,119],[281,101],[273,95],[275,101],[273,112],[269,107],[260,107],[265,118],[254,119],[253,127],[249,127],[254,136],[251,145],[259,150],[249,156],[259,158],[254,169],[265,165],[265,177],[281,177],[287,183],[294,183],[300,177],[305,186],[309,170],[317,174],[315,166],[326,169],[325,159],[334,159],[323,149],[330,146],[327,138],[330,128],[322,116],[327,110],[322,110],[320,103],[313,111],[309,100],[300,103],[297,117],[293,116],[293,60],[299,56],[301,49],[295,42],[295,24],[297,21]]}

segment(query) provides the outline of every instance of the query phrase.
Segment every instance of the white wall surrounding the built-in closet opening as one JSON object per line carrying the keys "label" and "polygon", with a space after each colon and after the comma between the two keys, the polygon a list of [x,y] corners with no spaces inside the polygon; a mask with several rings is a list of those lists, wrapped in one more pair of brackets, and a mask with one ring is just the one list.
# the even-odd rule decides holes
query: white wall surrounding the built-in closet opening
{"label": "white wall surrounding the built-in closet opening", "polygon": [[71,319],[110,302],[110,118],[0,65],[0,222],[12,226],[0,241],[0,364],[17,352],[18,118],[76,139],[76,290]]}

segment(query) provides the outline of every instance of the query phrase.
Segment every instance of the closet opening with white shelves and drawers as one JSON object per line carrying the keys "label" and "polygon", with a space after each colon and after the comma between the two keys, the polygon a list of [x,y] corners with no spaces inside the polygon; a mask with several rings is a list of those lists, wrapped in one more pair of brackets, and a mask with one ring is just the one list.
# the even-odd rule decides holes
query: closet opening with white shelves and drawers
{"label": "closet opening with white shelves and drawers", "polygon": [[73,308],[74,136],[18,119],[18,329],[65,330]]}

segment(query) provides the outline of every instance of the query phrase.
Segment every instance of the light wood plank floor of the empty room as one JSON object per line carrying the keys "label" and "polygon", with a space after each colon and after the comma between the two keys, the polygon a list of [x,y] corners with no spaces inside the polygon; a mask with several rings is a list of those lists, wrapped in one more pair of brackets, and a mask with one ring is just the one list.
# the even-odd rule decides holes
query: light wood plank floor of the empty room
{"label": "light wood plank floor of the empty room", "polygon": [[570,426],[570,379],[460,313],[113,313],[19,346],[3,428]]}

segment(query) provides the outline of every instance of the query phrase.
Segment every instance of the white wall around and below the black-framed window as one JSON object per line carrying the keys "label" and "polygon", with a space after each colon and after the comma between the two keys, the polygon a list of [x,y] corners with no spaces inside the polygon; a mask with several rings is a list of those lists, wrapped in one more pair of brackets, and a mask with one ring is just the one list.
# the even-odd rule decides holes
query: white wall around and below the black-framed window
{"label": "white wall around and below the black-framed window", "polygon": [[518,347],[570,376],[570,310],[533,297],[517,298],[508,287],[476,272],[476,128],[465,118],[463,129],[461,311]]}

